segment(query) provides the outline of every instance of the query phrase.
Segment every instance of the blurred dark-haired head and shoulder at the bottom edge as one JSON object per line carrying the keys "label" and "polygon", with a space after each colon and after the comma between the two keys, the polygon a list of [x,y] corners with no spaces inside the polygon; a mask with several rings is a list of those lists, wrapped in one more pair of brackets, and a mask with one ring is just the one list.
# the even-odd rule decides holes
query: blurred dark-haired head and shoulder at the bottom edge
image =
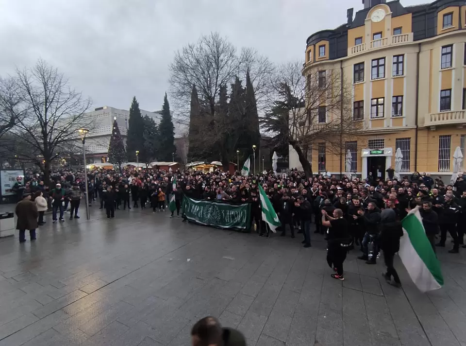
{"label": "blurred dark-haired head and shoulder at the bottom edge", "polygon": [[220,322],[207,316],[191,329],[192,346],[246,346],[245,336],[233,328],[222,328]]}

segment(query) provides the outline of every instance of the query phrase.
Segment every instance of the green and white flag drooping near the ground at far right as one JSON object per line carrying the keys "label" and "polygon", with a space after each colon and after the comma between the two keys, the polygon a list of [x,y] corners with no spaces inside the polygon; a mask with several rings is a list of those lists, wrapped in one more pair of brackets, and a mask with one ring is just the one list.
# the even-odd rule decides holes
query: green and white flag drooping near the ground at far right
{"label": "green and white flag drooping near the ground at far right", "polygon": [[440,262],[427,239],[419,209],[411,210],[402,224],[404,236],[398,254],[403,265],[419,291],[438,290],[443,285]]}

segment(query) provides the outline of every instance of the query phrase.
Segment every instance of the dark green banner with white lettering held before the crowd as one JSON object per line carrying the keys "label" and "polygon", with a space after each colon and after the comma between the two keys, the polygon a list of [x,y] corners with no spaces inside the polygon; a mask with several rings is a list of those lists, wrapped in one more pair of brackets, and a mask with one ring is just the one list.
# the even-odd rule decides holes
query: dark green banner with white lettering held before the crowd
{"label": "dark green banner with white lettering held before the crowd", "polygon": [[251,206],[249,203],[233,205],[217,201],[199,201],[184,196],[183,210],[189,222],[217,228],[248,232]]}

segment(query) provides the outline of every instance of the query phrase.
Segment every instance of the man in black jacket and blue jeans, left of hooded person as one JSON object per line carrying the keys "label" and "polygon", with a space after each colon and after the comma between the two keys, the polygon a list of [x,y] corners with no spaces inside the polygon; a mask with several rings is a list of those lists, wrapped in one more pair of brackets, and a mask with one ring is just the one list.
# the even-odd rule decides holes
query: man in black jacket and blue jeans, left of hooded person
{"label": "man in black jacket and blue jeans, left of hooded person", "polygon": [[[377,255],[379,254],[379,246],[377,244],[377,235],[379,234],[379,223],[380,223],[380,209],[377,208],[375,202],[369,202],[367,205],[367,211],[363,209],[358,210],[358,214],[361,215],[366,233],[363,238],[363,255],[359,256],[359,260],[365,260],[367,264],[376,264]],[[372,246],[372,257],[369,260],[369,242],[373,242]]]}

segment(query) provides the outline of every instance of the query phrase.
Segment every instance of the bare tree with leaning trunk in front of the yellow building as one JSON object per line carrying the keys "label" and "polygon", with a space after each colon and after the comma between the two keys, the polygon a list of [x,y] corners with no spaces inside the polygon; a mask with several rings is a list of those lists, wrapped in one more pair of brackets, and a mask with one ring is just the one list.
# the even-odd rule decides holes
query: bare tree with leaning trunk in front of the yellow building
{"label": "bare tree with leaning trunk in front of the yellow building", "polygon": [[261,125],[275,135],[275,146],[296,150],[307,175],[312,175],[307,153],[313,144],[325,142],[328,152],[341,157],[345,140],[360,134],[363,124],[353,119],[351,85],[339,69],[313,69],[304,77],[302,63],[292,62],[277,69],[272,85],[275,102]]}

